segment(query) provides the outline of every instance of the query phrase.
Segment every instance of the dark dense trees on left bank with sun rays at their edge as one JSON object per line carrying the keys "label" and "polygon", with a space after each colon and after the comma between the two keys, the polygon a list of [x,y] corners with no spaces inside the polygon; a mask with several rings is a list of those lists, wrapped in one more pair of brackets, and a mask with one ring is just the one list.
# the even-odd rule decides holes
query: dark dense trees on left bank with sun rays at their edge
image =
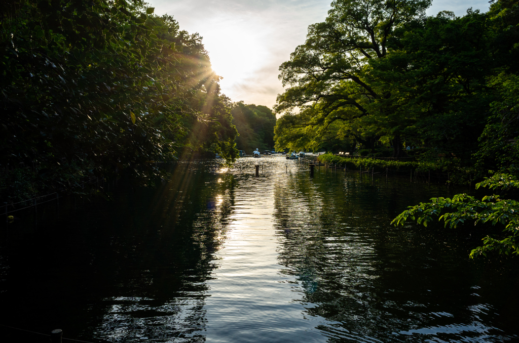
{"label": "dark dense trees on left bank with sun rays at their edge", "polygon": [[230,107],[198,34],[147,4],[0,5],[0,190],[12,202],[92,176],[140,184],[159,162],[237,156]]}

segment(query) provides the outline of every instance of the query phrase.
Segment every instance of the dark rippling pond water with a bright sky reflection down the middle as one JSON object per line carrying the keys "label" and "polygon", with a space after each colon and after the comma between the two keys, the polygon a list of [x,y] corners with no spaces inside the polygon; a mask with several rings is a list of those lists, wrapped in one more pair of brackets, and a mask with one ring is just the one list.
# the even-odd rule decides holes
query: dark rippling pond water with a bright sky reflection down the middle
{"label": "dark rippling pond water with a bright sky reflection down the middle", "polygon": [[310,178],[282,156],[179,163],[173,176],[4,223],[0,324],[92,342],[519,338],[517,262],[469,260],[480,228],[390,225],[466,189],[324,167]]}

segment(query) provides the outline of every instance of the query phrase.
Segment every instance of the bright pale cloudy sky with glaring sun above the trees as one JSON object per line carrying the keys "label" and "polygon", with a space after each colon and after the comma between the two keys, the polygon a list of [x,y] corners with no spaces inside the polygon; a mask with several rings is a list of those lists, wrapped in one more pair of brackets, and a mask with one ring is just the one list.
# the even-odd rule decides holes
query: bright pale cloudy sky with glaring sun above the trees
{"label": "bright pale cloudy sky with glaring sun above the trees", "polygon": [[[307,27],[324,21],[331,0],[147,0],[181,30],[198,32],[209,51],[222,92],[245,104],[276,104],[283,92],[279,65],[305,42]],[[488,0],[434,0],[427,14],[467,8],[488,10]]]}

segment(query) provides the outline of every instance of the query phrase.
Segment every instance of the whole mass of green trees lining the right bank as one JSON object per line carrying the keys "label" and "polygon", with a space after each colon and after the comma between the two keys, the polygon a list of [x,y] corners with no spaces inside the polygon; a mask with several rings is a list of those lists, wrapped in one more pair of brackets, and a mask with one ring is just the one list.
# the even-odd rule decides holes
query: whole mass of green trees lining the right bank
{"label": "whole mass of green trees lining the right bank", "polygon": [[334,1],[280,67],[276,148],[403,157],[409,146],[421,161],[515,173],[517,1],[462,17],[427,17],[429,6]]}

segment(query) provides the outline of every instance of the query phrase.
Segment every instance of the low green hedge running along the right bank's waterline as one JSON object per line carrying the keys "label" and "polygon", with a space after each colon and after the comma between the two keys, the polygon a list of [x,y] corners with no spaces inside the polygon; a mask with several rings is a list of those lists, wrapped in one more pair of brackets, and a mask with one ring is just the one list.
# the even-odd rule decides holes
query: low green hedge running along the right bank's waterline
{"label": "low green hedge running along the right bank's waterline", "polygon": [[424,161],[397,161],[364,158],[362,156],[337,156],[334,154],[319,155],[317,160],[323,164],[337,165],[341,168],[368,170],[374,174],[388,176],[411,176],[412,179],[424,182],[441,182],[449,184],[471,184],[477,175],[473,167],[465,167],[456,159]]}

